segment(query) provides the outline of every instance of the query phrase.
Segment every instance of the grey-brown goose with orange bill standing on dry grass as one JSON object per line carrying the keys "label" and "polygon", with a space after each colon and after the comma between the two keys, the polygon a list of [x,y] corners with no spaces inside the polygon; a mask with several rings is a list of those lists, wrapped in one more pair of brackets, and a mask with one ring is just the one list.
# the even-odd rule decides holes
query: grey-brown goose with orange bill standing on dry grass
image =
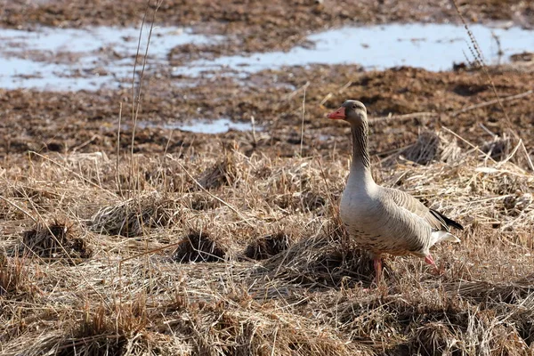
{"label": "grey-brown goose with orange bill standing on dry grass", "polygon": [[449,228],[464,230],[462,225],[405,191],[376,184],[369,164],[367,109],[360,101],[345,101],[328,118],[351,124],[352,164],[340,216],[351,238],[370,252],[376,284],[381,280],[384,253],[416,255],[437,269],[429,248],[441,241],[460,242]]}

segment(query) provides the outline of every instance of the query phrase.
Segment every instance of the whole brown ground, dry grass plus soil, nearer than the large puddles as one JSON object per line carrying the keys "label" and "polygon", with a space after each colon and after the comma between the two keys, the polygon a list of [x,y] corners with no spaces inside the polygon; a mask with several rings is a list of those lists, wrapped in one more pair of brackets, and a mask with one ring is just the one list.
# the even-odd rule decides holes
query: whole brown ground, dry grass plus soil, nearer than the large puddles
{"label": "whole brown ground, dry grass plus soil, nearer than the large puddles", "polygon": [[[128,89],[0,89],[0,355],[534,355],[531,63],[288,70],[190,99],[148,77],[138,117]],[[387,256],[371,285],[324,117],[349,98],[376,181],[465,226],[439,274]],[[198,109],[258,127],[134,132]]]}

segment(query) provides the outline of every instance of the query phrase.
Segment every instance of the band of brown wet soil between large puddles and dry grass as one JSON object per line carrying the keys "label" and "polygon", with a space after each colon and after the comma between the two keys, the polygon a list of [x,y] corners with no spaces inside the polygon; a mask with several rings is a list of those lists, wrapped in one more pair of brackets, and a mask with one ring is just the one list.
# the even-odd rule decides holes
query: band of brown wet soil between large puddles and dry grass
{"label": "band of brown wet soil between large puddles and dry grass", "polygon": [[[500,98],[480,108],[462,109],[495,101],[491,77]],[[218,150],[238,145],[247,153],[272,156],[328,155],[332,150],[348,154],[348,127],[332,122],[326,113],[344,100],[363,101],[371,117],[392,117],[371,125],[371,150],[384,155],[406,147],[424,128],[446,126],[474,145],[482,146],[495,136],[519,134],[528,148],[534,146],[534,105],[526,94],[516,100],[504,98],[527,93],[534,74],[501,67],[429,72],[398,68],[362,71],[357,66],[313,66],[263,71],[234,79],[202,79],[195,87],[179,88],[165,78],[147,78],[138,120],[153,125],[137,128],[134,151],[162,153],[194,148]],[[303,118],[303,93],[306,93]],[[117,150],[119,112],[122,115],[120,148],[129,149],[133,133],[132,93],[129,89],[99,92],[50,93],[27,90],[0,91],[0,157],[28,150],[93,152]],[[321,104],[322,103],[322,104]],[[121,112],[122,105],[122,112]],[[506,114],[505,114],[506,113]],[[192,134],[162,125],[198,118],[229,117],[255,121],[255,132],[230,130],[225,134]],[[214,144],[215,143],[215,144]],[[532,152],[530,152],[532,155]]]}

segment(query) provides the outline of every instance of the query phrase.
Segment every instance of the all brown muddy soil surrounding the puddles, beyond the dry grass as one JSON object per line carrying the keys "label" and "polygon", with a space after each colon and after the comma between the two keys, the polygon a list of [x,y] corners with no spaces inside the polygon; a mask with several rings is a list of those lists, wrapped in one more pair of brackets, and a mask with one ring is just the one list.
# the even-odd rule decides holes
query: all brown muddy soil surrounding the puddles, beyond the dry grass
{"label": "all brown muddy soil surrounding the puddles, beyond the dry grass", "polygon": [[[528,26],[533,5],[512,3],[458,4],[466,20],[511,20]],[[144,1],[10,2],[4,4],[2,24],[15,28],[131,25],[142,20],[146,4]],[[150,8],[155,9],[156,5],[150,4]],[[153,14],[148,12],[149,20]],[[457,22],[459,17],[449,2],[417,2],[416,6],[412,1],[356,4],[310,0],[200,4],[166,1],[158,7],[154,19],[157,23],[192,26],[197,31],[224,34],[228,38],[223,44],[175,47],[169,53],[169,60],[180,64],[184,59],[190,61],[198,56],[210,58],[223,53],[287,49],[299,44],[310,30],[321,28],[391,21]],[[200,47],[202,53],[198,52]],[[465,135],[475,145],[483,145],[497,135],[510,135],[506,130],[512,130],[521,134],[527,147],[532,147],[534,119],[530,113],[534,108],[530,95],[504,101],[503,107],[494,103],[461,112],[469,106],[495,100],[491,81],[500,98],[529,91],[534,85],[530,63],[520,61],[514,66],[486,70],[459,65],[456,71],[439,73],[411,68],[364,71],[356,65],[314,65],[264,70],[247,77],[215,72],[211,77],[195,79],[192,85],[190,78],[176,77],[172,70],[162,68],[145,74],[137,119],[151,125],[137,128],[134,151],[218,150],[223,144],[238,145],[248,154],[262,151],[272,156],[293,156],[301,154],[302,141],[304,155],[331,154],[333,148],[348,152],[346,125],[324,118],[329,109],[335,109],[348,98],[363,101],[370,117],[429,113],[372,125],[371,149],[375,154],[385,155],[405,147],[415,142],[422,128],[441,125]],[[0,116],[3,117],[0,137],[4,137],[0,142],[0,158],[28,150],[100,150],[112,154],[117,150],[119,117],[118,145],[120,149],[129,149],[134,131],[132,102],[132,90],[127,84],[122,89],[97,92],[0,90]],[[158,125],[221,117],[247,123],[254,120],[257,127],[255,132],[230,130],[213,135],[191,134]]]}

